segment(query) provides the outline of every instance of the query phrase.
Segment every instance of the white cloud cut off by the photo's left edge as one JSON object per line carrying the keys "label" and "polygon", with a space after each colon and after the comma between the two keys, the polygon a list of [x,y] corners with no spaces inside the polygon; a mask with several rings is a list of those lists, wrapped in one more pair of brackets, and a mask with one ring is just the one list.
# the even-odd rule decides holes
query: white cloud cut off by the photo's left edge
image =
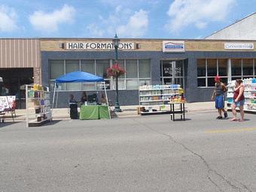
{"label": "white cloud cut off by the photo's left edge", "polygon": [[0,32],[12,32],[18,28],[16,12],[6,6],[0,5]]}

